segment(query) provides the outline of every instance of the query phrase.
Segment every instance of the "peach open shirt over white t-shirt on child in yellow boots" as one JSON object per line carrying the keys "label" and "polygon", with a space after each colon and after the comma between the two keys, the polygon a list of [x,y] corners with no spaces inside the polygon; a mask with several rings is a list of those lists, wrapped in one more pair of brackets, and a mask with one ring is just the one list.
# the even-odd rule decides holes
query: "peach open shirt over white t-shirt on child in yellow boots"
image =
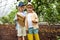
{"label": "peach open shirt over white t-shirt on child in yellow boots", "polygon": [[25,26],[27,28],[31,28],[31,27],[34,27],[35,28],[38,28],[38,23],[33,23],[33,20],[35,20],[36,22],[38,22],[38,16],[35,12],[33,13],[28,13],[27,16],[26,16],[26,20],[25,20]]}

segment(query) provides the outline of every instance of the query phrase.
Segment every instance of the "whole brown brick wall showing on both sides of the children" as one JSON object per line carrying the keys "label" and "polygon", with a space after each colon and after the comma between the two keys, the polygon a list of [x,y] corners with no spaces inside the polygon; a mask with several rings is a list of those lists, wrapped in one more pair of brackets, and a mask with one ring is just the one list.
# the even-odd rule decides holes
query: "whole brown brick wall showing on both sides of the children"
{"label": "whole brown brick wall showing on both sides of the children", "polygon": [[[39,35],[41,40],[57,40],[60,36],[60,25],[39,25]],[[17,40],[15,25],[0,25],[0,40]]]}

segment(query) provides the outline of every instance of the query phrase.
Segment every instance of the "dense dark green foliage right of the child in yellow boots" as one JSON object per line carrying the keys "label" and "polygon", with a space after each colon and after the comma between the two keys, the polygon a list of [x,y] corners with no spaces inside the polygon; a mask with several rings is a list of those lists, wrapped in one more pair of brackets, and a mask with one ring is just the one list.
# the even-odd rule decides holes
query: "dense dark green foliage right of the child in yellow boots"
{"label": "dense dark green foliage right of the child in yellow boots", "polygon": [[60,23],[60,1],[59,0],[33,0],[36,13],[42,16],[43,21],[50,24]]}

